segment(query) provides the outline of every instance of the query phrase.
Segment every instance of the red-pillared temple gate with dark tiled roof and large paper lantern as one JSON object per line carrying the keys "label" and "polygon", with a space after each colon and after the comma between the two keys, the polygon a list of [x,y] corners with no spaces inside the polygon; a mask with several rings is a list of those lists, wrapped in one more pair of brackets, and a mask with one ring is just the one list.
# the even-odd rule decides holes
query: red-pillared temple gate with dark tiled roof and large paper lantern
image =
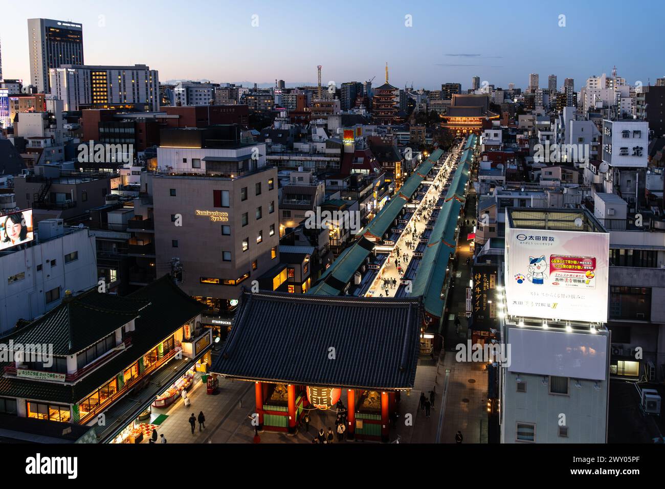
{"label": "red-pillared temple gate with dark tiled roof and large paper lantern", "polygon": [[[255,384],[259,430],[295,433],[342,399],[348,439],[390,439],[396,397],[414,387],[420,297],[243,292],[211,371]],[[256,416],[255,416],[256,417]]]}

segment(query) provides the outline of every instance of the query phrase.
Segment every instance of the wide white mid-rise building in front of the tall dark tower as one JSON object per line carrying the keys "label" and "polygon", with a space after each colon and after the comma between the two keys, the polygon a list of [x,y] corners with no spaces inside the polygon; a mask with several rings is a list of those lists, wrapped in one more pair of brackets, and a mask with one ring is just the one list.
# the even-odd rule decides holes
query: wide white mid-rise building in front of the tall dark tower
{"label": "wide white mid-rise building in front of the tall dark tower", "polygon": [[146,65],[130,67],[63,65],[52,68],[51,93],[63,110],[83,108],[160,108],[160,81]]}

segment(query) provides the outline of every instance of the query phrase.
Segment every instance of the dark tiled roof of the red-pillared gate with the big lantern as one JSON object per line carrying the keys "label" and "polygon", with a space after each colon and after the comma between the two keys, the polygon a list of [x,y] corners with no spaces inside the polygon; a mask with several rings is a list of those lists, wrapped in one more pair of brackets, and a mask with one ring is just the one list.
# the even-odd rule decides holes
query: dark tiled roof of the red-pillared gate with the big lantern
{"label": "dark tiled roof of the red-pillared gate with the big lantern", "polygon": [[254,381],[409,389],[421,315],[419,298],[245,291],[211,371]]}

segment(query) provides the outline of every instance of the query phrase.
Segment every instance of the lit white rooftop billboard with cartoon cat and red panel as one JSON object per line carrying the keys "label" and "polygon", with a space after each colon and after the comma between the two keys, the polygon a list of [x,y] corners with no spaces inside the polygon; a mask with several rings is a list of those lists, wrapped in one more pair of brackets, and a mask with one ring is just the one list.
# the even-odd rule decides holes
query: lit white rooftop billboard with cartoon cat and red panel
{"label": "lit white rooftop billboard with cartoon cat and red panel", "polygon": [[506,226],[505,246],[509,315],[607,321],[608,233]]}

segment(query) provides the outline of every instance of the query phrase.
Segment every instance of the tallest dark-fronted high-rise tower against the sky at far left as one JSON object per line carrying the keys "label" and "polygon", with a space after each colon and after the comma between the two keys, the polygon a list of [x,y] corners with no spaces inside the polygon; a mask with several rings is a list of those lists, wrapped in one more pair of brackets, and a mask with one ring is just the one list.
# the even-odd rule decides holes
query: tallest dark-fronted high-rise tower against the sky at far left
{"label": "tallest dark-fronted high-rise tower against the sky at far left", "polygon": [[82,65],[83,27],[80,23],[28,19],[30,82],[43,93],[51,92],[49,70],[62,65]]}

